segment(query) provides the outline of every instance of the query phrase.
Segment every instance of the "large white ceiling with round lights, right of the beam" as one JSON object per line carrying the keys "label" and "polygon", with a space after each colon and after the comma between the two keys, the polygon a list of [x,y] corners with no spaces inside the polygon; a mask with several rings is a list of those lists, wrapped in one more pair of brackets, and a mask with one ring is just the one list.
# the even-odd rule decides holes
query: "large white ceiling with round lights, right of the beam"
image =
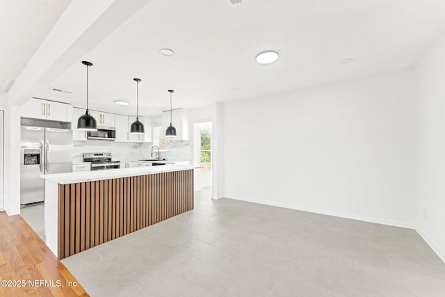
{"label": "large white ceiling with round lights, right of the beam", "polygon": [[[170,88],[173,107],[195,108],[411,67],[444,15],[443,0],[152,0],[84,57],[95,64],[90,108],[135,113],[133,77],[143,79],[140,113],[156,115]],[[163,47],[176,55],[161,56]],[[266,49],[280,59],[258,65]],[[339,65],[343,58],[356,60]],[[79,61],[35,95],[85,106],[85,71]]]}

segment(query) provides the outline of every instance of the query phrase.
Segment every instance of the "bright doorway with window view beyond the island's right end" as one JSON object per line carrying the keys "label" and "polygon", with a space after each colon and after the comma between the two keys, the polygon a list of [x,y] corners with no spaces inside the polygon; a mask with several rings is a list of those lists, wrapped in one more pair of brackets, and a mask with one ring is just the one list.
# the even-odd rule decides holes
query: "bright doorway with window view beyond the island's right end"
{"label": "bright doorway with window view beyond the island's right end", "polygon": [[198,122],[193,125],[193,163],[202,166],[195,170],[195,191],[211,196],[211,122]]}

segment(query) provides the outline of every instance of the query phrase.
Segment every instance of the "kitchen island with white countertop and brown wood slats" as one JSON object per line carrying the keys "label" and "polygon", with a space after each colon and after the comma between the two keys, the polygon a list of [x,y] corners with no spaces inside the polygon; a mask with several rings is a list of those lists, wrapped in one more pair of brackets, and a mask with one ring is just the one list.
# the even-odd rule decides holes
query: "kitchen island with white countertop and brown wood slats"
{"label": "kitchen island with white countertop and brown wood slats", "polygon": [[147,166],[42,175],[47,246],[59,259],[193,209],[193,170]]}

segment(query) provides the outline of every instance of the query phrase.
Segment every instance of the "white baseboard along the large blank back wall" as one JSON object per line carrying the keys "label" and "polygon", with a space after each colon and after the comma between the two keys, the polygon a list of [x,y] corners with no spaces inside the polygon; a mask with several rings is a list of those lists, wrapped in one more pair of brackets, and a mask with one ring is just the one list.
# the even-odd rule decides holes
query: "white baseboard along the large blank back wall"
{"label": "white baseboard along the large blank back wall", "polygon": [[350,218],[351,220],[362,220],[364,222],[369,222],[369,223],[377,223],[377,224],[382,224],[382,225],[402,227],[402,228],[413,229],[413,230],[415,229],[414,223],[408,223],[408,222],[403,222],[403,221],[399,221],[399,220],[388,220],[386,218],[375,218],[373,216],[360,216],[360,215],[355,215],[355,214],[346,214],[346,213],[342,213],[342,212],[338,212],[338,211],[330,211],[330,210],[326,210],[326,209],[316,209],[316,208],[312,208],[312,207],[301,207],[298,205],[273,202],[273,201],[268,201],[268,200],[250,199],[250,198],[245,198],[245,197],[241,197],[241,196],[237,196],[237,195],[224,195],[224,197],[229,198],[229,199],[234,199],[234,200],[241,200],[241,201],[246,201],[246,202],[270,205],[273,207],[283,207],[286,209],[307,211],[307,212],[312,212],[315,214],[324,214],[326,216],[337,216],[339,218]]}

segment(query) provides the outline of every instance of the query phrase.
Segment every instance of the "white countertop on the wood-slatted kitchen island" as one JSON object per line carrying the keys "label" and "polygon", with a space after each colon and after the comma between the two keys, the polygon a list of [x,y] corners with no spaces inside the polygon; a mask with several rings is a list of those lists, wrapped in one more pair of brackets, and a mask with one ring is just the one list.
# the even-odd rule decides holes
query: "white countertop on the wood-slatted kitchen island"
{"label": "white countertop on the wood-slatted kitchen island", "polygon": [[110,169],[110,170],[55,173],[52,175],[40,175],[40,177],[42,177],[42,179],[47,179],[51,182],[55,182],[57,184],[74,184],[76,182],[91,182],[93,180],[101,180],[101,179],[133,177],[138,175],[152,175],[162,172],[190,170],[195,168],[201,168],[201,166],[192,166],[192,165],[144,166],[136,168],[120,168],[120,169]]}

